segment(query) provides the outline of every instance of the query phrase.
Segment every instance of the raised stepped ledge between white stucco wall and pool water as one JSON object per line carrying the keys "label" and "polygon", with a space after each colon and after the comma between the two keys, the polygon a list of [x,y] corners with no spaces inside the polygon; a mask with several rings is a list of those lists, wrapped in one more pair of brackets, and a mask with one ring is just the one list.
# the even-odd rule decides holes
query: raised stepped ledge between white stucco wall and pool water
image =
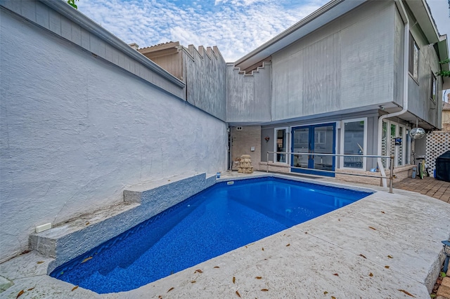
{"label": "raised stepped ledge between white stucco wall and pool water", "polygon": [[216,182],[215,174],[177,175],[124,190],[124,201],[30,235],[30,249],[55,258],[48,273]]}

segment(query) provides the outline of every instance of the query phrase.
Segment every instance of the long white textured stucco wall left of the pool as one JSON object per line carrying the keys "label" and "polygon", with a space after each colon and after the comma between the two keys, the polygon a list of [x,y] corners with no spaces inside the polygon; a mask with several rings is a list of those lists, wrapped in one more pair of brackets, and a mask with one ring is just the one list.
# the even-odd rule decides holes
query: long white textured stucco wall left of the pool
{"label": "long white textured stucco wall left of the pool", "polygon": [[1,11],[0,262],[126,187],[226,169],[226,124]]}

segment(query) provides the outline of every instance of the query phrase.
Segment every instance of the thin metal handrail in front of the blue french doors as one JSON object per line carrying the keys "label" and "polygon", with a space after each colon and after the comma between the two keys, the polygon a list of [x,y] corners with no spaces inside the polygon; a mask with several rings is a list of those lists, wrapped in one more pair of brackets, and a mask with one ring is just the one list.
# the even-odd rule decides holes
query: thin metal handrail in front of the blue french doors
{"label": "thin metal handrail in front of the blue french doors", "polygon": [[[296,156],[333,156],[333,157],[360,157],[360,158],[387,158],[390,159],[389,169],[390,175],[364,175],[359,173],[340,173],[342,175],[359,175],[368,178],[389,178],[389,193],[392,193],[392,180],[394,178],[394,156],[378,156],[375,154],[322,154],[319,152],[267,152],[267,169],[266,172],[269,173],[269,154],[292,154]],[[274,164],[274,162],[272,162]],[[302,168],[290,166],[290,168]],[[302,168],[304,169],[304,168]],[[314,169],[314,171],[323,171],[328,173],[336,173],[336,171],[324,171],[323,169]],[[381,173],[380,173],[381,174]]]}

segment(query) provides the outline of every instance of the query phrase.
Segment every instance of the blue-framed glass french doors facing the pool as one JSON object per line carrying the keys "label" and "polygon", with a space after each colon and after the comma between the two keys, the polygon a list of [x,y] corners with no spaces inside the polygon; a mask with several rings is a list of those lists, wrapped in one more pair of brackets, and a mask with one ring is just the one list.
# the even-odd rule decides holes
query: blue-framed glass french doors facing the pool
{"label": "blue-framed glass french doors facing the pool", "polygon": [[335,154],[336,124],[319,124],[312,126],[298,126],[292,128],[290,159],[292,172],[316,175],[335,176],[326,171],[335,170],[335,157],[321,154]]}

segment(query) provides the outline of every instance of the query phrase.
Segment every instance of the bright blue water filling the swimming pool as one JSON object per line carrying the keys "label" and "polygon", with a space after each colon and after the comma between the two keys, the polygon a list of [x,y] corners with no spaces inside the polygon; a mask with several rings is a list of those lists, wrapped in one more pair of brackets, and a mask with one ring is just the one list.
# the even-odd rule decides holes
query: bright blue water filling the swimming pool
{"label": "bright blue water filling the swimming pool", "polygon": [[129,291],[369,194],[280,178],[220,182],[51,276],[97,293]]}

